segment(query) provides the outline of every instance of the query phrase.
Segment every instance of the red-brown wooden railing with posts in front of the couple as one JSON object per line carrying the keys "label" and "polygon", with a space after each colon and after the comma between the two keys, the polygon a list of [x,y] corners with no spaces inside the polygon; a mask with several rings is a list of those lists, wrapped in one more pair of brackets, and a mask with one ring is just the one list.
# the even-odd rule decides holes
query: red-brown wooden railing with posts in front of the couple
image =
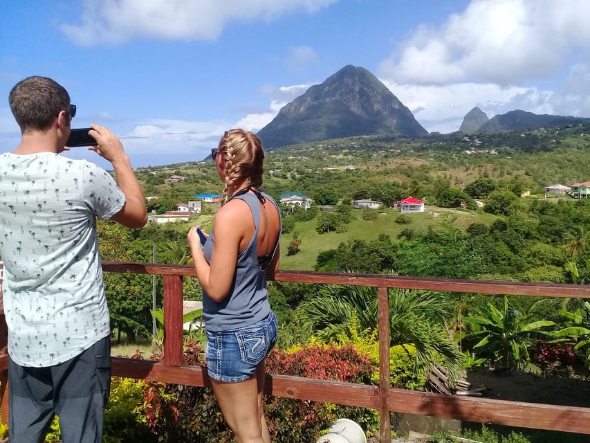
{"label": "red-brown wooden railing with posts in front of the couple", "polygon": [[[194,268],[169,264],[122,262],[104,262],[102,267],[106,272],[163,275],[164,282],[163,360],[156,362],[113,357],[113,375],[190,386],[210,386],[206,371],[203,371],[199,366],[183,364],[182,279],[183,276],[196,275]],[[378,409],[380,412],[380,443],[391,441],[390,412],[590,434],[590,408],[440,395],[432,392],[391,388],[389,381],[388,291],[389,288],[401,288],[483,293],[490,296],[590,298],[589,285],[533,284],[309,271],[279,271],[275,280],[377,287],[380,381],[379,386],[369,386],[267,374],[266,394]],[[2,334],[0,334],[0,341],[1,339]],[[0,343],[0,347],[1,345],[3,343]],[[6,375],[6,360],[6,357],[0,357],[0,379]],[[0,392],[1,394],[2,392]],[[5,402],[3,401],[2,406],[5,406]],[[3,417],[6,415],[3,414]]]}

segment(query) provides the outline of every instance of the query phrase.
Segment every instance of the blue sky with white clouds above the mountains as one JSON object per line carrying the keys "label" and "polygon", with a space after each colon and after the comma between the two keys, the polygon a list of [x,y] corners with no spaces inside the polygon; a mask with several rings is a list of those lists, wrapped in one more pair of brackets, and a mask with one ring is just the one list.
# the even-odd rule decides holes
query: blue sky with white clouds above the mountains
{"label": "blue sky with white clouds above the mountains", "polygon": [[0,152],[19,143],[8,93],[29,75],[64,85],[73,127],[109,127],[136,167],[199,161],[347,64],[430,132],[475,106],[590,117],[588,17],[587,0],[2,1]]}

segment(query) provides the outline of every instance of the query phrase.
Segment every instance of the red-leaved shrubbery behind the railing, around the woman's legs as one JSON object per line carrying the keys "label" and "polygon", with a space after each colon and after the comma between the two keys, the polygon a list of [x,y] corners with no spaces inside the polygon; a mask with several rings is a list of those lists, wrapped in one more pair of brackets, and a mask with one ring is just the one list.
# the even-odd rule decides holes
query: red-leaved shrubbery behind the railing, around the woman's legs
{"label": "red-leaved shrubbery behind the railing, around the woman's legs", "polygon": [[[184,363],[205,365],[198,343],[185,345]],[[293,352],[273,350],[266,360],[266,372],[332,381],[369,383],[376,370],[352,345],[308,345]],[[169,442],[231,442],[232,433],[209,388],[154,383],[146,390],[146,411],[154,433]],[[376,410],[268,396],[265,399],[268,430],[275,443],[312,442],[335,419],[346,417],[365,431],[376,431]]]}

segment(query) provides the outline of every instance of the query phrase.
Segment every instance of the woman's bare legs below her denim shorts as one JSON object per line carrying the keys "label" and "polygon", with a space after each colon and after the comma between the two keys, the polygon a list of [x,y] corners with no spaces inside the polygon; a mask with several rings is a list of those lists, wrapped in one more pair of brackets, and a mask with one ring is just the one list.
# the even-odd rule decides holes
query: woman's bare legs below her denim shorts
{"label": "woman's bare legs below her denim shorts", "polygon": [[264,418],[264,363],[256,370],[256,377],[239,383],[223,383],[211,379],[213,392],[237,443],[270,443]]}

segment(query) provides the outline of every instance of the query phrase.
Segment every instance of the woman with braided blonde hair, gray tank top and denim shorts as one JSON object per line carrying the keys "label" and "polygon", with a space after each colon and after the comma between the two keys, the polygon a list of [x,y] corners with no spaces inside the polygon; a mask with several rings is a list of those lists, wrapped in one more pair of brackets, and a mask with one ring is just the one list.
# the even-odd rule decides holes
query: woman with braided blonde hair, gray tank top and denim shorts
{"label": "woman with braided blonde hair, gray tank top and denim shorts", "polygon": [[211,156],[225,183],[223,206],[203,248],[196,227],[187,235],[203,287],[207,370],[237,442],[270,443],[262,394],[277,318],[266,279],[279,265],[281,216],[276,202],[260,190],[264,150],[255,134],[227,131]]}

